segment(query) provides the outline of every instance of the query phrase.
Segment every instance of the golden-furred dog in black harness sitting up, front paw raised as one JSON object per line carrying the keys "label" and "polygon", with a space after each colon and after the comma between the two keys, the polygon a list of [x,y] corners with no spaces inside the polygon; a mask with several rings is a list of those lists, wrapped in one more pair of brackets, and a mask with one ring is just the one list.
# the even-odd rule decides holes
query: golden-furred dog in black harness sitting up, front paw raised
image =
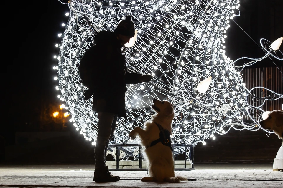
{"label": "golden-furred dog in black harness sitting up, front paw raised", "polygon": [[[176,176],[174,172],[174,159],[171,150],[171,145],[165,145],[165,143],[171,144],[170,135],[172,135],[172,120],[174,118],[174,106],[164,100],[159,101],[153,99],[152,108],[157,112],[153,115],[151,120],[145,123],[144,129],[141,127],[135,127],[130,133],[129,137],[135,139],[139,135],[141,140],[141,145],[145,147],[145,157],[147,161],[147,168],[149,172],[149,177],[143,177],[141,181],[158,181],[158,182],[179,182],[187,181],[187,178]],[[159,128],[160,127],[160,128]],[[162,134],[161,130],[167,130],[167,136]],[[161,139],[162,142],[158,141],[159,136],[164,135],[164,137],[169,137],[169,139]],[[163,136],[162,136],[163,137]],[[154,145],[152,144],[154,143]]]}

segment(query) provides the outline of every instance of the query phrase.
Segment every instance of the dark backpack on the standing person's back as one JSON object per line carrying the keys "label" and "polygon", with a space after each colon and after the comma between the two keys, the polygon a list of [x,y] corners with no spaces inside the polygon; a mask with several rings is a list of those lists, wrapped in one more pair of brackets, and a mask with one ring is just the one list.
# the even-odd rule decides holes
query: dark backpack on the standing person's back
{"label": "dark backpack on the standing person's back", "polygon": [[91,88],[94,82],[94,75],[95,75],[95,68],[96,68],[96,61],[97,61],[97,46],[94,45],[89,48],[83,58],[80,60],[80,65],[78,67],[80,78],[82,83],[87,88]]}

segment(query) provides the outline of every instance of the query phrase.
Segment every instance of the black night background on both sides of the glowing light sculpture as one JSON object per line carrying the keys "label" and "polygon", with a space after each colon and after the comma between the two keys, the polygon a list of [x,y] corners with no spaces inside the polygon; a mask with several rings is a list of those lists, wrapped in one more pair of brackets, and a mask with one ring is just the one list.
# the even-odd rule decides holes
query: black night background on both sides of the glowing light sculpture
{"label": "black night background on both sides of the glowing light sculpture", "polygon": [[[231,21],[226,38],[226,55],[232,60],[240,57],[264,56],[259,40],[274,41],[283,36],[282,0],[241,0],[241,16]],[[53,118],[60,110],[53,78],[57,71],[54,55],[56,43],[64,32],[62,23],[68,21],[67,5],[57,0],[17,1],[11,17],[2,19],[2,123],[0,129],[0,160],[2,163],[93,163],[91,142],[86,141],[74,127]],[[5,26],[8,23],[8,26]],[[5,45],[8,44],[8,47]],[[282,51],[282,47],[280,48]],[[12,60],[12,61],[11,61]],[[241,64],[243,62],[239,62]],[[282,61],[266,58],[247,68],[278,68]],[[277,68],[277,67],[278,68]],[[246,69],[245,69],[246,70]],[[274,77],[267,72],[266,77]],[[246,82],[251,77],[243,75]],[[270,80],[273,82],[273,80]],[[282,92],[282,77],[278,82]],[[282,100],[281,100],[282,101]],[[282,103],[282,102],[281,102]],[[271,106],[271,107],[270,107]],[[269,105],[269,109],[278,108]],[[43,132],[43,133],[42,133]],[[235,131],[217,135],[195,147],[196,162],[272,162],[281,145],[276,135],[269,137],[263,130]]]}

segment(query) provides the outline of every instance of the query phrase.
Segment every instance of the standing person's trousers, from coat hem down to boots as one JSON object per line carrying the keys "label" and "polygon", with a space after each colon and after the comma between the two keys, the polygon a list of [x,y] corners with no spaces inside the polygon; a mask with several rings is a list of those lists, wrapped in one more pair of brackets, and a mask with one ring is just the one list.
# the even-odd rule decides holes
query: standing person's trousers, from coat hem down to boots
{"label": "standing person's trousers, from coat hem down to boots", "polygon": [[113,138],[116,128],[117,114],[98,112],[98,134],[94,148],[95,169],[105,167],[105,156],[109,141]]}

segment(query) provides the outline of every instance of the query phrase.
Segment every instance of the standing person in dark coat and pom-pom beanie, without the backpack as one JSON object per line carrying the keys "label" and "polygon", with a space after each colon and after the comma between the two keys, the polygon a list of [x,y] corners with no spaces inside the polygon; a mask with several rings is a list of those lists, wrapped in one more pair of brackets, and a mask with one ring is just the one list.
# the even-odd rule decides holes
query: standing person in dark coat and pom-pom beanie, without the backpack
{"label": "standing person in dark coat and pom-pom beanie, without the backpack", "polygon": [[[93,70],[93,82],[88,95],[93,95],[93,111],[98,113],[98,134],[95,153],[95,171],[93,181],[116,182],[120,178],[113,176],[105,164],[109,141],[114,135],[117,117],[126,116],[126,84],[149,82],[151,75],[129,73],[125,56],[121,48],[134,37],[135,28],[131,16],[126,16],[114,32],[100,31],[94,37],[95,48],[100,54],[96,58]],[[91,49],[90,49],[91,50]],[[97,52],[96,51],[96,52]]]}

